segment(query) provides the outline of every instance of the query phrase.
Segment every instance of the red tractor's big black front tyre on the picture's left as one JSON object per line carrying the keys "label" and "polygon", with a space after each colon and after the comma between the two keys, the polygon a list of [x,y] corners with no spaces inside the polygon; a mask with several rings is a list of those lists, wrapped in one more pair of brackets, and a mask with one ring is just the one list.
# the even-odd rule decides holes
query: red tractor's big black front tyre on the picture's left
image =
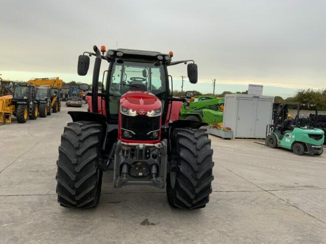
{"label": "red tractor's big black front tyre on the picture's left", "polygon": [[102,126],[93,122],[68,123],[61,136],[56,179],[58,202],[65,207],[98,204],[102,170],[99,168]]}

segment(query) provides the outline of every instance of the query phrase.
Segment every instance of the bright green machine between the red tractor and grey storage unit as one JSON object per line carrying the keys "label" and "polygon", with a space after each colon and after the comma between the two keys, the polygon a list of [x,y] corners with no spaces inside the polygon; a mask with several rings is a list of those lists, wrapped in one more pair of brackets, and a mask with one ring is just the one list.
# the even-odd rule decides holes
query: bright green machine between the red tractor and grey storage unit
{"label": "bright green machine between the red tractor and grey storage unit", "polygon": [[201,121],[207,124],[223,122],[224,98],[194,102],[194,92],[185,92],[186,101],[181,107],[180,119]]}

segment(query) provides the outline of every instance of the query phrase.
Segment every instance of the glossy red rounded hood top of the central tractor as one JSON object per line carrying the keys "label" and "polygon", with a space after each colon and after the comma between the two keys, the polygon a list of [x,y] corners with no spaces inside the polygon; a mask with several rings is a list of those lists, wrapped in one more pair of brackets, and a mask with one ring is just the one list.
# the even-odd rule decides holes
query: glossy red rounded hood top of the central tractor
{"label": "glossy red rounded hood top of the central tractor", "polygon": [[153,94],[142,90],[132,90],[121,96],[121,106],[137,111],[139,115],[145,115],[150,110],[159,109],[161,101]]}

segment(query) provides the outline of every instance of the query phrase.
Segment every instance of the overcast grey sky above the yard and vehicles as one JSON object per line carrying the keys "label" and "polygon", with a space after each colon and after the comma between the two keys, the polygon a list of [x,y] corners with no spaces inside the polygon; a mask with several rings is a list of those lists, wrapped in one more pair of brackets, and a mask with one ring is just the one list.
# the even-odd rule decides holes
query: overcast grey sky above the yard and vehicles
{"label": "overcast grey sky above the yard and vehicles", "polygon": [[[60,76],[90,83],[91,72],[77,75],[78,55],[118,42],[121,48],[172,50],[174,60],[195,59],[199,82],[207,83],[196,89],[203,92],[212,89],[213,78],[218,91],[222,84],[248,83],[326,88],[326,1],[0,3],[3,78]],[[170,74],[178,84],[185,66],[171,67]],[[286,96],[282,88],[279,94]]]}

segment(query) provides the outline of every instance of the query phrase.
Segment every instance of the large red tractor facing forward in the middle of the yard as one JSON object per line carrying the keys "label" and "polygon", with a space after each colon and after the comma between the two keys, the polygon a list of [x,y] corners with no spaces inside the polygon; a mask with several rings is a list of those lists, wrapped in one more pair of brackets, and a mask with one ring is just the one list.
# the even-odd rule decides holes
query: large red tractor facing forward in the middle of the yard
{"label": "large red tractor facing forward in the middle of the yard", "polygon": [[[113,171],[115,188],[166,187],[173,207],[205,207],[212,192],[211,142],[199,129],[205,123],[178,119],[184,99],[172,96],[167,69],[189,63],[189,81],[197,83],[197,65],[193,60],[172,62],[172,52],[93,49],[78,58],[78,75],[86,75],[89,56],[95,56],[89,112],[68,112],[73,122],[65,127],[59,146],[60,205],[96,206],[102,172]],[[102,60],[108,68],[98,87]],[[89,89],[87,84],[79,87]]]}

